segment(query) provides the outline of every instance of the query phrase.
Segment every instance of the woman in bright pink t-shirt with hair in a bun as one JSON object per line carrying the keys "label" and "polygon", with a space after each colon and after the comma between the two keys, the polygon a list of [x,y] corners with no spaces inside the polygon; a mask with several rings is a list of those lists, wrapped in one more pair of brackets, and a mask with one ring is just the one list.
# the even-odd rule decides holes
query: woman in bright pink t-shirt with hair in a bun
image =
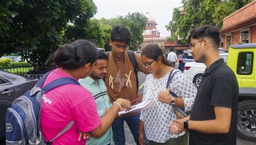
{"label": "woman in bright pink t-shirt with hair in a bun", "polygon": [[[90,41],[79,39],[71,45],[61,46],[54,57],[60,68],[49,73],[43,87],[58,78],[67,77],[76,81],[85,78],[92,73],[97,57],[97,48]],[[52,89],[45,93],[43,99],[40,127],[47,144],[86,144],[87,133],[93,137],[102,136],[120,108],[131,107],[129,100],[116,99],[113,107],[100,119],[92,94],[81,85],[71,84]],[[70,121],[74,121],[72,127],[54,142],[49,142]]]}

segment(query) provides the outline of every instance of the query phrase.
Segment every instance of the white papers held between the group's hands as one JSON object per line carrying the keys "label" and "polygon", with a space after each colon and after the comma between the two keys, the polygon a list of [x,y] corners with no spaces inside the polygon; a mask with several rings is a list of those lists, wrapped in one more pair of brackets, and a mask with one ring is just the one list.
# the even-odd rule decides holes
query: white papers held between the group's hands
{"label": "white papers held between the group's hands", "polygon": [[140,102],[139,104],[132,106],[129,111],[119,111],[118,114],[120,115],[134,114],[134,113],[140,112],[143,109],[148,109],[153,106],[154,106],[153,100],[145,100],[143,102]]}

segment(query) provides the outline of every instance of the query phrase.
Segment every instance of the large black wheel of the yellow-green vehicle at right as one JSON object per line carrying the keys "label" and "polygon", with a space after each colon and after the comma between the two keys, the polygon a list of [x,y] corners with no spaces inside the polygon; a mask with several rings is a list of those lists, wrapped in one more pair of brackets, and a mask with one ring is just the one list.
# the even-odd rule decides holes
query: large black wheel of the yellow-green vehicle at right
{"label": "large black wheel of the yellow-green vehicle at right", "polygon": [[256,100],[243,100],[238,104],[237,135],[241,139],[256,141]]}

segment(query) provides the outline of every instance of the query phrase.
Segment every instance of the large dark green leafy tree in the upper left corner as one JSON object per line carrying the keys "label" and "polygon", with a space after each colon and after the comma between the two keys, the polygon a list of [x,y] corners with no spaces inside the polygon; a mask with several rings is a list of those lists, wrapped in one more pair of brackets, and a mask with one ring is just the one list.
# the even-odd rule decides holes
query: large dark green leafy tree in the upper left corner
{"label": "large dark green leafy tree in the upper left corner", "polygon": [[4,0],[0,2],[0,55],[19,52],[42,64],[63,44],[68,22],[86,27],[96,12],[92,0]]}

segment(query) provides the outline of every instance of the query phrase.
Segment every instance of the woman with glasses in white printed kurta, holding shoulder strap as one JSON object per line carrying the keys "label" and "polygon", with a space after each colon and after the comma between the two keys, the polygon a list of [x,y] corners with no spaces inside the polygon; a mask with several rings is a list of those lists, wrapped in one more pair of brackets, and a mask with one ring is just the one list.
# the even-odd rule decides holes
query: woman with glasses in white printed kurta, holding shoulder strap
{"label": "woman with glasses in white printed kurta, holding shoulder strap", "polygon": [[[179,69],[170,66],[161,48],[156,44],[145,46],[141,59],[150,72],[144,84],[143,101],[152,100],[154,107],[141,111],[140,144],[145,144],[143,130],[145,130],[149,144],[188,144],[188,134],[185,132],[179,135],[172,134],[168,130],[168,123],[170,120],[177,119],[172,104],[184,107],[186,112],[191,111],[196,96],[195,85]],[[166,89],[170,73],[173,74],[173,79]],[[170,96],[170,90],[178,97]]]}

